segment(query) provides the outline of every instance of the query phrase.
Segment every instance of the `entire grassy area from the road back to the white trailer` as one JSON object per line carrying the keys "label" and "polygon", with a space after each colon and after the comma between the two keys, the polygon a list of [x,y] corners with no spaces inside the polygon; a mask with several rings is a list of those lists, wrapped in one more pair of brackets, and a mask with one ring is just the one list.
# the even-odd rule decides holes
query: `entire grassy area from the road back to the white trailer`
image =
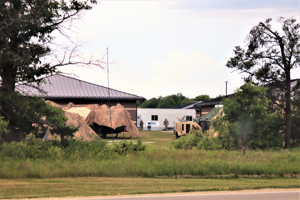
{"label": "entire grassy area from the road back to the white trailer", "polygon": [[132,140],[129,134],[114,139],[108,135],[105,141],[109,144],[141,140],[146,145],[145,151],[122,155],[105,149],[87,155],[95,148],[81,146],[82,151],[78,146],[70,156],[51,148],[55,157],[29,159],[12,149],[17,157],[0,157],[0,199],[299,189],[299,148],[246,151],[245,155],[240,151],[182,150],[170,148],[175,140],[172,132],[142,133]]}

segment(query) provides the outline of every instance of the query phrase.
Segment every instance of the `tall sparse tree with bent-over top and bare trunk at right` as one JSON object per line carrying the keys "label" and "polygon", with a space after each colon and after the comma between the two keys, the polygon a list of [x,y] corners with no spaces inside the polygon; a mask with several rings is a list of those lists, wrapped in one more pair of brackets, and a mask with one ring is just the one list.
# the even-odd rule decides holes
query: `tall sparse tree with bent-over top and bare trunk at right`
{"label": "tall sparse tree with bent-over top and bare trunk at right", "polygon": [[[277,87],[278,101],[273,103],[285,112],[285,148],[291,146],[291,69],[299,67],[300,34],[296,19],[280,17],[282,35],[271,29],[271,18],[259,22],[246,37],[247,47],[235,46],[235,56],[226,66],[249,74],[246,81],[255,78],[260,84]],[[283,102],[283,103],[280,103]]]}

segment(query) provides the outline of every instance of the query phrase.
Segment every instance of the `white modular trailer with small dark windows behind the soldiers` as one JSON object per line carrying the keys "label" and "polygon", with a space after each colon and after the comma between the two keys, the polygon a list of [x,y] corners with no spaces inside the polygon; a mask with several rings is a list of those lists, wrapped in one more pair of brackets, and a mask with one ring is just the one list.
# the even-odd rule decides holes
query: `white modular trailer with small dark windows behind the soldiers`
{"label": "white modular trailer with small dark windows behind the soldiers", "polygon": [[[140,128],[141,119],[144,122],[143,130],[164,130],[164,120],[169,121],[168,131],[173,131],[178,118],[185,115],[187,121],[196,118],[195,109],[158,109],[158,108],[137,108],[137,127]],[[150,128],[151,126],[151,128]]]}

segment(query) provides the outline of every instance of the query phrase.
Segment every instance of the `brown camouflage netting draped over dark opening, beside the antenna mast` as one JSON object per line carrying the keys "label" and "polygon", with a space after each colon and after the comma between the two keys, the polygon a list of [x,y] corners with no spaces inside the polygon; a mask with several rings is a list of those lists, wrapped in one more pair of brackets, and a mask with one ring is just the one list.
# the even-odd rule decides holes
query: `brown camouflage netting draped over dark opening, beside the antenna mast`
{"label": "brown camouflage netting draped over dark opening, beside the antenna mast", "polygon": [[[111,123],[110,123],[111,112]],[[118,127],[124,127],[133,138],[142,136],[142,133],[138,130],[137,126],[131,119],[131,115],[121,104],[117,106],[109,107],[102,105],[101,109],[91,110],[85,119],[88,125],[96,123],[100,126],[111,127],[116,130]]]}

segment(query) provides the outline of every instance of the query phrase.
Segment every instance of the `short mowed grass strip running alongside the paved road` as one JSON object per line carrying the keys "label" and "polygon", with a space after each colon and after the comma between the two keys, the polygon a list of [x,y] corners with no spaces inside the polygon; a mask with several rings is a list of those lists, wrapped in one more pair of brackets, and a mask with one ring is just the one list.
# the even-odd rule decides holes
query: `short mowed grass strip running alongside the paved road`
{"label": "short mowed grass strip running alongside the paved road", "polygon": [[0,180],[0,199],[299,188],[299,179],[52,178]]}

